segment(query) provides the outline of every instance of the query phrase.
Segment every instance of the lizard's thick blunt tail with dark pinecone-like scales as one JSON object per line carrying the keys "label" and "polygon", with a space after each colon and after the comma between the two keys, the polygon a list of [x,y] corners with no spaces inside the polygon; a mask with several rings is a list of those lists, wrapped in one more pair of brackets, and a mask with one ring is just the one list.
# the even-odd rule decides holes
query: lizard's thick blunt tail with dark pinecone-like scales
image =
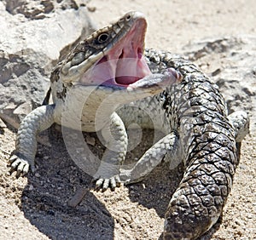
{"label": "lizard's thick blunt tail with dark pinecone-like scales", "polygon": [[[186,124],[191,128],[189,120]],[[218,116],[192,126],[187,135],[193,137],[185,138],[190,142],[187,169],[166,211],[165,239],[195,239],[209,230],[222,213],[235,174],[236,142],[228,120]]]}

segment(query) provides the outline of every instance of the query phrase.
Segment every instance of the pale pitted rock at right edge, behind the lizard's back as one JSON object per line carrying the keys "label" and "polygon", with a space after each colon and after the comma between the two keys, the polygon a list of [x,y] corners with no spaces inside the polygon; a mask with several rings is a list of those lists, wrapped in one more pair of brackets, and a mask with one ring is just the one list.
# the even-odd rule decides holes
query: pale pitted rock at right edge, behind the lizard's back
{"label": "pale pitted rock at right edge, behind the lizard's back", "polygon": [[[229,112],[244,110],[256,130],[256,37],[238,36],[205,39],[183,48],[190,60],[201,66],[224,94]],[[220,69],[219,66],[222,66]]]}

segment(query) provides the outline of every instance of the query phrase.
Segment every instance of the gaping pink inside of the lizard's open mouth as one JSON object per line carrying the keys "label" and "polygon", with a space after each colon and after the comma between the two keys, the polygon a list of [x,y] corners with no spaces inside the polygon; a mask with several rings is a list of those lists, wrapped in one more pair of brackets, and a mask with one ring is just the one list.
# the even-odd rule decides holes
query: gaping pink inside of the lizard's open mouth
{"label": "gaping pink inside of the lizard's open mouth", "polygon": [[102,59],[89,72],[85,72],[85,82],[127,88],[150,75],[151,71],[143,57],[146,28],[146,20],[136,20],[131,29],[113,44]]}

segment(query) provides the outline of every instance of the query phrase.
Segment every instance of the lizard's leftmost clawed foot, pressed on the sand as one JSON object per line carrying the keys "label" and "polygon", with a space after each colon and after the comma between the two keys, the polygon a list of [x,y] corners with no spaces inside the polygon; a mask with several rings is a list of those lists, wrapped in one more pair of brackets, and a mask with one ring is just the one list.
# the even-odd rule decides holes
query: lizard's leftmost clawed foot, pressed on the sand
{"label": "lizard's leftmost clawed foot, pressed on the sand", "polygon": [[27,161],[25,159],[26,157],[21,157],[19,155],[13,155],[9,159],[9,173],[12,174],[16,171],[16,178],[19,178],[20,176],[24,176],[28,173],[29,169],[32,170],[32,172],[35,171],[34,164],[30,164],[30,161]]}

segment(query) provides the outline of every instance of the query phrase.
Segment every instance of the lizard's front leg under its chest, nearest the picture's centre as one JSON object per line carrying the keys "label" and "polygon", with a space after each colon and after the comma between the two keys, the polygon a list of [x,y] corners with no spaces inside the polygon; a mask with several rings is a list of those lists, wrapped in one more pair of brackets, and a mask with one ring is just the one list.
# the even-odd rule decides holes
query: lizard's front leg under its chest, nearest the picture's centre
{"label": "lizard's front leg under its chest, nearest the picture's centre", "polygon": [[119,169],[125,160],[128,145],[125,125],[116,112],[111,115],[110,123],[102,129],[102,136],[107,149],[94,180],[96,188],[102,188],[104,191],[108,186],[114,189],[120,184]]}

